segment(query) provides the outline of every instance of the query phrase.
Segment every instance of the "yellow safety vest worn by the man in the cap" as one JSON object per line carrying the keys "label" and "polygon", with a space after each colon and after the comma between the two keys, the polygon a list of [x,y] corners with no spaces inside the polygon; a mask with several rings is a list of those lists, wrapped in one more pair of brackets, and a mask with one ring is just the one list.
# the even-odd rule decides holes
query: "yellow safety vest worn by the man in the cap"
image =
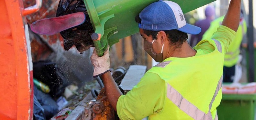
{"label": "yellow safety vest worn by the man in the cap", "polygon": [[[217,40],[211,53],[188,58],[167,58],[148,72],[165,81],[166,96],[159,113],[149,120],[216,120],[221,100],[224,49]],[[152,88],[153,89],[153,88]]]}

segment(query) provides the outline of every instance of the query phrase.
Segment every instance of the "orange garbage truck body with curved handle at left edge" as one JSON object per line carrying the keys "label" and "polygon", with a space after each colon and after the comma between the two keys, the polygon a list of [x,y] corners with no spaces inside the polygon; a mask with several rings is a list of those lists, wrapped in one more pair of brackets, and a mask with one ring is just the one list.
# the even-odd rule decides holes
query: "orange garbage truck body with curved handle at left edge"
{"label": "orange garbage truck body with curved handle at left edge", "polygon": [[33,118],[33,74],[25,15],[41,0],[24,8],[22,0],[0,0],[0,119]]}

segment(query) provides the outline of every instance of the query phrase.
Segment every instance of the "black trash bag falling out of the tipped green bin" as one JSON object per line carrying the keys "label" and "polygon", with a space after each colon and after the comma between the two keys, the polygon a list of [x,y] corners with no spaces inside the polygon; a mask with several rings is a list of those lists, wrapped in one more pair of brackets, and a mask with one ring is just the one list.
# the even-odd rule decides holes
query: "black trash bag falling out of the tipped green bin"
{"label": "black trash bag falling out of the tipped green bin", "polygon": [[64,49],[68,51],[73,45],[79,52],[84,52],[90,47],[93,47],[91,38],[94,30],[89,18],[88,12],[85,8],[83,0],[60,0],[56,17],[75,13],[84,12],[86,20],[83,24],[61,31],[60,35],[64,38]]}

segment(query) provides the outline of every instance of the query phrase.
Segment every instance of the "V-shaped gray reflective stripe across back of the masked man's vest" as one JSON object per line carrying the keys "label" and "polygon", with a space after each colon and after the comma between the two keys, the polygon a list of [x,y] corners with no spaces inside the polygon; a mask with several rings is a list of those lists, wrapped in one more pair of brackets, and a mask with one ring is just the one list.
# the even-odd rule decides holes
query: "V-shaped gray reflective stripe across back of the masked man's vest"
{"label": "V-shaped gray reflective stripe across back of the masked man's vest", "polygon": [[[211,108],[212,103],[215,100],[220,88],[222,86],[222,76],[218,81],[218,85],[212,97],[211,103],[209,104],[209,111],[205,114],[203,111],[198,109],[195,105],[190,103],[188,100],[183,98],[183,96],[175,90],[170,84],[167,86],[167,98],[171,100],[178,108],[180,108],[183,112],[191,116],[195,120],[212,120]],[[218,119],[218,118],[217,118]]]}

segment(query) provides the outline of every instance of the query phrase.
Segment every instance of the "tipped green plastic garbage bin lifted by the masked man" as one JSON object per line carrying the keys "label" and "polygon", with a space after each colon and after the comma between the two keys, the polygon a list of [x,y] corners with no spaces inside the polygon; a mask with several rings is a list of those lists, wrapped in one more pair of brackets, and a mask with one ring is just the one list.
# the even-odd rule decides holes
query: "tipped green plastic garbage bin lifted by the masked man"
{"label": "tipped green plastic garbage bin lifted by the masked man", "polygon": [[[138,33],[135,16],[146,6],[158,0],[84,0],[95,34],[92,40],[99,56],[119,39]],[[183,13],[192,11],[215,0],[172,0]]]}

